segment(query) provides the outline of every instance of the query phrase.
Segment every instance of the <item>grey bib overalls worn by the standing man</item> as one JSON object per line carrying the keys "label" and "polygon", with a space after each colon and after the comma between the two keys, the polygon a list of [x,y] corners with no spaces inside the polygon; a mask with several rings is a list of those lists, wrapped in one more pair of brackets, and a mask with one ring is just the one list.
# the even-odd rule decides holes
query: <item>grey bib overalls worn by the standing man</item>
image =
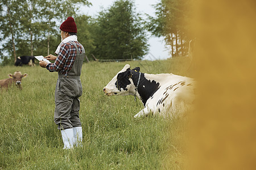
{"label": "grey bib overalls worn by the standing man", "polygon": [[61,74],[60,71],[58,72],[59,76],[55,88],[54,121],[60,130],[81,126],[79,118],[79,97],[82,95],[80,75],[85,50],[82,47],[82,53],[79,53],[75,42],[69,42],[76,47],[76,59],[67,75]]}

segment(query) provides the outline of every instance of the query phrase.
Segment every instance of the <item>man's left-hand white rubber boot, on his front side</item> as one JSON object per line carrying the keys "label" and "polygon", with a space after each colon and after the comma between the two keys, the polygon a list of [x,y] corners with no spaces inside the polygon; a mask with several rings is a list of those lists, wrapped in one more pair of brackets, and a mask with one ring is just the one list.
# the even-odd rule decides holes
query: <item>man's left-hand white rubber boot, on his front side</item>
{"label": "man's left-hand white rubber boot, on his front side", "polygon": [[70,149],[70,148],[73,148],[73,136],[74,136],[74,133],[73,133],[73,129],[70,128],[70,129],[64,129],[64,130],[61,130],[61,135],[62,135],[62,139],[63,139],[63,143],[64,143],[64,147],[63,149]]}

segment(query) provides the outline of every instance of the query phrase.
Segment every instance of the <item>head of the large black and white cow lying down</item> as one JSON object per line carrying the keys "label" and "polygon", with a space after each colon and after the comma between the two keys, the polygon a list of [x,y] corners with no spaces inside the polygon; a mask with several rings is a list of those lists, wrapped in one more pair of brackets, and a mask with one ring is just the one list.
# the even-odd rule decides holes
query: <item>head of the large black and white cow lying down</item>
{"label": "head of the large black and white cow lying down", "polygon": [[133,95],[135,93],[135,86],[131,79],[131,75],[135,70],[138,72],[139,67],[131,70],[130,65],[125,65],[125,67],[123,67],[123,69],[114,76],[107,86],[103,88],[105,95]]}

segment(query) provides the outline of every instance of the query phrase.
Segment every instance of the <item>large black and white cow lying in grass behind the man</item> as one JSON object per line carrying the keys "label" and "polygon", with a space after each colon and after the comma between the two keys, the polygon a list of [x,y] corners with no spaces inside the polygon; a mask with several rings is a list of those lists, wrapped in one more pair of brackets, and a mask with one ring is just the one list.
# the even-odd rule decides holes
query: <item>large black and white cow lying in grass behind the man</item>
{"label": "large black and white cow lying in grass behind the man", "polygon": [[104,87],[105,95],[134,95],[141,99],[144,109],[134,117],[160,114],[176,117],[193,107],[195,79],[174,74],[140,73],[139,67],[125,65]]}

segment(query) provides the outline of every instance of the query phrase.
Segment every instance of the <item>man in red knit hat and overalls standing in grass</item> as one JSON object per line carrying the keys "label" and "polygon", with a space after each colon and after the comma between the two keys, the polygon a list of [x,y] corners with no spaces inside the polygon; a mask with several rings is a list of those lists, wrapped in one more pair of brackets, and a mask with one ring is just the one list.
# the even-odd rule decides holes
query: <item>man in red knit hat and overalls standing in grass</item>
{"label": "man in red knit hat and overalls standing in grass", "polygon": [[77,41],[75,20],[68,17],[60,25],[61,42],[53,56],[44,58],[55,61],[40,61],[39,65],[49,71],[58,71],[55,88],[54,121],[61,130],[64,149],[81,146],[82,127],[79,118],[82,84],[80,80],[82,62],[85,57],[84,47]]}

